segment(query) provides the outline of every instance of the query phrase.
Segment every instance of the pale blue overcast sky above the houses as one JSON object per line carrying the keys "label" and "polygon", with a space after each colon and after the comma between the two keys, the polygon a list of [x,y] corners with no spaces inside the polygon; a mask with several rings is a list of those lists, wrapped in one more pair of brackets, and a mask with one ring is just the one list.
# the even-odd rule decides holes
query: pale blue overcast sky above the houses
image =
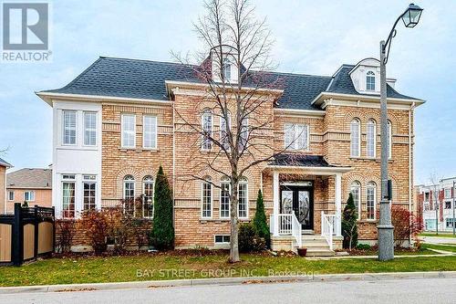
{"label": "pale blue overcast sky above the houses", "polygon": [[[22,1],[19,1],[22,2]],[[26,1],[25,1],[26,2]],[[1,157],[16,168],[52,162],[52,110],[34,91],[66,85],[98,56],[171,61],[198,49],[192,22],[202,1],[52,1],[52,63],[0,63]],[[332,75],[343,64],[378,57],[408,1],[256,0],[275,37],[279,71]],[[456,176],[456,1],[417,2],[413,29],[399,24],[388,77],[399,92],[427,102],[415,112],[415,178]]]}

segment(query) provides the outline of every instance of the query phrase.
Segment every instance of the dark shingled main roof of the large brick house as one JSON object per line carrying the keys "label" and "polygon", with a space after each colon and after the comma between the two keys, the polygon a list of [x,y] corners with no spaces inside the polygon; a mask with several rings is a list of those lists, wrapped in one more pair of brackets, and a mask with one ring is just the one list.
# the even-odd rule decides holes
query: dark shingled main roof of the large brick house
{"label": "dark shingled main roof of the large brick house", "polygon": [[[342,66],[334,78],[291,73],[268,73],[283,83],[283,88],[280,89],[284,89],[284,94],[277,100],[277,107],[319,110],[311,102],[324,91],[361,95],[354,88],[348,75],[353,67]],[[43,92],[169,100],[165,80],[202,83],[202,80],[194,75],[192,68],[179,63],[100,57],[67,86]],[[388,88],[388,96],[410,99],[390,87]]]}

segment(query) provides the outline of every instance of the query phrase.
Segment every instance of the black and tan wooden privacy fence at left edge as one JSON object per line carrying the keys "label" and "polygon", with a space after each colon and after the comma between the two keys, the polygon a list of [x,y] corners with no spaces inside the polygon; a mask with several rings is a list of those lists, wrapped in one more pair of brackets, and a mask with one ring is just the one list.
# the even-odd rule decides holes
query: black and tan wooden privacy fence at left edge
{"label": "black and tan wooden privacy fence at left edge", "polygon": [[0,265],[20,266],[50,255],[56,244],[54,208],[22,207],[14,215],[0,215]]}

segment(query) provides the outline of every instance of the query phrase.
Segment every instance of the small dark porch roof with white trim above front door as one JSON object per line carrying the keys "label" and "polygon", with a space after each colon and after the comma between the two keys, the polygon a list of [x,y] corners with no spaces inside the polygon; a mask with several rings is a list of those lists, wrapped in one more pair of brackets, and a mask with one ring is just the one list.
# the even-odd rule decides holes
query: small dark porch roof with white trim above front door
{"label": "small dark porch roof with white trim above front door", "polygon": [[347,173],[351,167],[337,166],[326,162],[321,155],[280,154],[269,162],[267,168],[275,171],[304,171],[311,174],[329,175]]}

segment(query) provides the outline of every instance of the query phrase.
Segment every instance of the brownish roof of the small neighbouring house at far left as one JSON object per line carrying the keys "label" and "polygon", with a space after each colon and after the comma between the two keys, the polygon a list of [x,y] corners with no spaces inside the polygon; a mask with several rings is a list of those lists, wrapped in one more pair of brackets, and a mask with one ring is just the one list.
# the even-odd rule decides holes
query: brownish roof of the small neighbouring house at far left
{"label": "brownish roof of the small neighbouring house at far left", "polygon": [[6,188],[52,189],[52,170],[24,168],[7,173]]}

